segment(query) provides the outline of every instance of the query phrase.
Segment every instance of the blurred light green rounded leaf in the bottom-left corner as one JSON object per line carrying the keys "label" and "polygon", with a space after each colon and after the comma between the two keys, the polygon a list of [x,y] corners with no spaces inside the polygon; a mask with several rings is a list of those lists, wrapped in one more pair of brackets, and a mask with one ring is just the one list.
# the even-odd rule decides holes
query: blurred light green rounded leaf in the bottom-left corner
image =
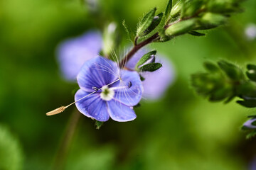
{"label": "blurred light green rounded leaf in the bottom-left corner", "polygon": [[0,169],[18,170],[23,166],[23,152],[18,139],[4,125],[0,125]]}

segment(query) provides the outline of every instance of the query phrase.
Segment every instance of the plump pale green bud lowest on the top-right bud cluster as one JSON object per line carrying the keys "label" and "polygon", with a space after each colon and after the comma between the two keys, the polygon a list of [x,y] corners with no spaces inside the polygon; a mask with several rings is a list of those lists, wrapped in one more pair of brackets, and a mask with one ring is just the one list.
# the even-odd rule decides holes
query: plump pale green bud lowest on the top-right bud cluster
{"label": "plump pale green bud lowest on the top-right bud cluster", "polygon": [[169,26],[169,28],[166,29],[165,33],[168,36],[175,36],[187,33],[189,30],[193,29],[193,27],[196,25],[196,21],[196,19],[189,19],[186,21],[175,23],[174,25]]}

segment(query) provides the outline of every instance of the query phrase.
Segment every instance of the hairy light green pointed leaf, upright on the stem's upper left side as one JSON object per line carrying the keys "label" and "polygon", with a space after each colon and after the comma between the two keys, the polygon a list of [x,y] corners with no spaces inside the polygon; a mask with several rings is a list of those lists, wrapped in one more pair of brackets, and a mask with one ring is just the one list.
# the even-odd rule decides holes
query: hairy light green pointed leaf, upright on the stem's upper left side
{"label": "hairy light green pointed leaf, upright on the stem's upper left side", "polygon": [[144,18],[142,18],[142,21],[139,22],[139,26],[137,28],[137,36],[143,36],[144,35],[144,31],[149,28],[149,26],[151,25],[154,16],[156,13],[156,8],[151,9],[151,11],[149,11],[148,13],[146,13],[146,15],[144,16]]}

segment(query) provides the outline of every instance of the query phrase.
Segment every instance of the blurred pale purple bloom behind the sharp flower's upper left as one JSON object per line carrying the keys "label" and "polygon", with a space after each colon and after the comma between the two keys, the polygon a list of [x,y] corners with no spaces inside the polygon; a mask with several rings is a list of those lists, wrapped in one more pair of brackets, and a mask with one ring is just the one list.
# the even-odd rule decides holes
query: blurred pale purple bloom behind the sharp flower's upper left
{"label": "blurred pale purple bloom behind the sharp flower's upper left", "polygon": [[101,48],[102,37],[97,31],[90,31],[60,43],[57,57],[63,77],[68,81],[75,81],[82,64],[97,57]]}

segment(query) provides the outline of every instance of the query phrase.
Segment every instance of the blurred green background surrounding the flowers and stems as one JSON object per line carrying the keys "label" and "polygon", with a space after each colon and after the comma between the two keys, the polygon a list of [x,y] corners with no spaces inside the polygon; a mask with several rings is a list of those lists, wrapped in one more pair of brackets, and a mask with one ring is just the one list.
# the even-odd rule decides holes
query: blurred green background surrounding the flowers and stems
{"label": "blurred green background surrounding the flowers and stems", "polygon": [[165,5],[166,0],[99,0],[100,17],[79,0],[0,1],[0,169],[248,169],[256,142],[245,140],[240,126],[255,110],[235,101],[209,103],[195,94],[189,78],[203,71],[206,60],[255,64],[256,43],[244,35],[247,24],[256,23],[253,0],[206,37],[183,35],[150,45],[176,69],[166,95],[143,101],[136,120],[110,120],[100,130],[81,115],[67,157],[54,166],[75,106],[51,117],[46,112],[73,102],[76,86],[61,78],[55,47],[107,21],[116,21],[128,42],[122,20],[136,28],[143,13]]}

